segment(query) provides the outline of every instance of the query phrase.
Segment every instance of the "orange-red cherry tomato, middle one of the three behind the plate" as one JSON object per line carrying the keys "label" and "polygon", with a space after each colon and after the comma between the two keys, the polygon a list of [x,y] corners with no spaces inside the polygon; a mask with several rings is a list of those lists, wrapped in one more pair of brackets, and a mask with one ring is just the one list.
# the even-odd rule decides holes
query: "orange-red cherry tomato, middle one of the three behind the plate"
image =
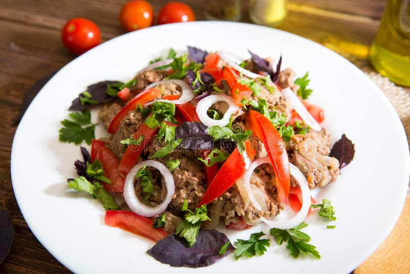
{"label": "orange-red cherry tomato, middle one of the three behind the plate", "polygon": [[151,27],[154,22],[154,10],[151,4],[144,0],[128,2],[121,8],[119,22],[125,31]]}

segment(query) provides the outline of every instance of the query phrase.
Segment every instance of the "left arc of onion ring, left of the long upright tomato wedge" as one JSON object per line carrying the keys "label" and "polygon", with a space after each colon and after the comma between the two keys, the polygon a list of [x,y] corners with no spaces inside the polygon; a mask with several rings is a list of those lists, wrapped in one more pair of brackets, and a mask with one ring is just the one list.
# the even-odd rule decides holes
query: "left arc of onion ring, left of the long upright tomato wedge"
{"label": "left arc of onion ring, left of the long upright tomato wedge", "polygon": [[[260,193],[252,190],[251,177],[252,177],[252,173],[255,170],[255,168],[257,168],[258,166],[262,164],[266,164],[266,163],[271,163],[269,156],[253,160],[253,162],[249,165],[249,168],[245,171],[242,177],[238,180],[239,184],[241,184],[241,188],[243,187],[245,189],[245,191],[241,191],[241,194],[243,194],[244,196],[244,200],[250,200],[253,206],[259,211],[268,210],[268,205],[264,201],[264,197],[261,197]],[[255,197],[255,192],[258,198]]]}

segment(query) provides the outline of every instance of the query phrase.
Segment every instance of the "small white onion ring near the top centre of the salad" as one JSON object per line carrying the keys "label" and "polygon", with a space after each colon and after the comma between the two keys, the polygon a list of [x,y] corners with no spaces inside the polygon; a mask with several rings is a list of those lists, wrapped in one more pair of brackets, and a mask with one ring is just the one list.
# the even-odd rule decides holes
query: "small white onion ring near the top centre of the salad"
{"label": "small white onion ring near the top centre of the salad", "polygon": [[[221,120],[212,119],[208,116],[208,109],[217,102],[225,102],[229,105],[228,110],[223,114]],[[198,102],[196,105],[196,113],[198,114],[199,120],[206,126],[226,126],[229,124],[231,115],[238,110],[238,106],[235,104],[233,98],[228,95],[223,94],[213,94],[209,95]]]}

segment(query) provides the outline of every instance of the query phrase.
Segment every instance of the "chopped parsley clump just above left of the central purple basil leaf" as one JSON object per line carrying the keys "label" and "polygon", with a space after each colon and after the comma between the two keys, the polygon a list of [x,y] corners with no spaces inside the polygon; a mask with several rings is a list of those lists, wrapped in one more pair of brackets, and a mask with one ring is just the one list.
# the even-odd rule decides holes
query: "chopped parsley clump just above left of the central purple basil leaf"
{"label": "chopped parsley clump just above left of the central purple basil leaf", "polygon": [[155,102],[152,104],[152,115],[145,119],[144,123],[152,129],[159,127],[162,121],[168,121],[179,125],[174,118],[175,105],[168,102]]}

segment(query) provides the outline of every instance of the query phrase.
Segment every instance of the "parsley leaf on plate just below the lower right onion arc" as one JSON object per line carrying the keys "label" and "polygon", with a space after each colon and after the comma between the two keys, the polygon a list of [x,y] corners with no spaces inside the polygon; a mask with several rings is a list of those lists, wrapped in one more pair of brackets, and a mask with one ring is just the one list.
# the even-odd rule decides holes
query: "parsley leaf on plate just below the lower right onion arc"
{"label": "parsley leaf on plate just below the lower right onion arc", "polygon": [[300,229],[306,226],[308,226],[308,224],[302,222],[298,226],[291,229],[271,228],[270,233],[279,245],[283,242],[288,242],[286,244],[286,249],[289,250],[289,254],[293,258],[298,258],[300,253],[310,253],[320,259],[320,254],[316,250],[316,246],[308,244],[311,240],[309,235],[300,231]]}

